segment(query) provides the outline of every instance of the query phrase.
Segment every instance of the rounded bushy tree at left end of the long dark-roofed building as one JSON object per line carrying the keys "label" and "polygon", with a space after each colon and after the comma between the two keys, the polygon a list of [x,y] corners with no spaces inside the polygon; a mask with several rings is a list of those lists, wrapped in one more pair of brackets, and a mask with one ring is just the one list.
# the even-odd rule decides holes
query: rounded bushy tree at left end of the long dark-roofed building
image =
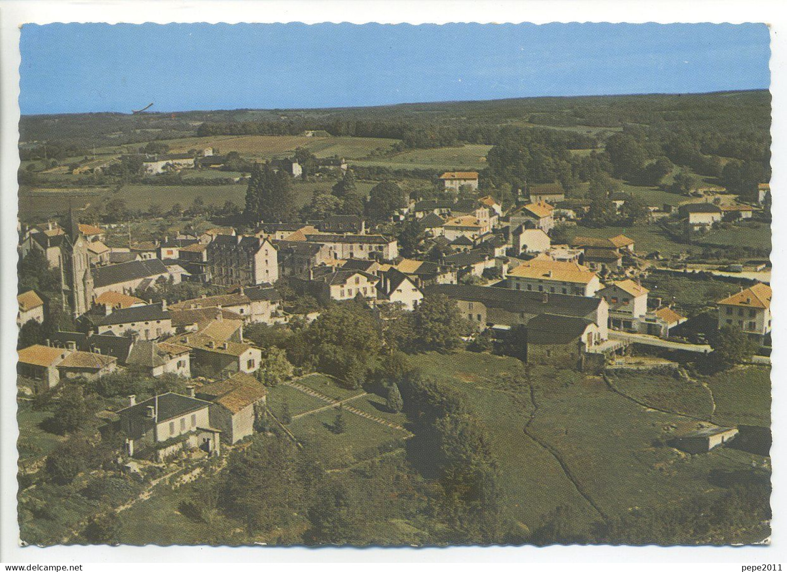
{"label": "rounded bushy tree at left end of the long dark-roofed building", "polygon": [[423,299],[413,318],[416,344],[433,350],[455,350],[468,330],[456,303],[442,294]]}

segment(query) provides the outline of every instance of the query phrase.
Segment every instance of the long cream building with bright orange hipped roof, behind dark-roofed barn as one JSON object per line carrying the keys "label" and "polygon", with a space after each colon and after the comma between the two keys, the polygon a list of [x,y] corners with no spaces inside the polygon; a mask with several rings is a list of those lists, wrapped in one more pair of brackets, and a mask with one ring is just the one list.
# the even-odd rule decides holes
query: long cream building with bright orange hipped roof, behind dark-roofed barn
{"label": "long cream building with bright orange hipped roof, behind dark-roofed barn", "polygon": [[550,294],[592,296],[601,288],[593,270],[576,262],[539,255],[508,272],[508,288]]}

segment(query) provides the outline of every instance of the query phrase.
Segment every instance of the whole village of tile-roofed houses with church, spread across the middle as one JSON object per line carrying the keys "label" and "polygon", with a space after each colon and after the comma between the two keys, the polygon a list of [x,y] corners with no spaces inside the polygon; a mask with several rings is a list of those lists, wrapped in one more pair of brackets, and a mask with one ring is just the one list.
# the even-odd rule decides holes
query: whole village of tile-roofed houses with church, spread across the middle
{"label": "whole village of tile-roofed houses with church, spread across the middle", "polygon": [[[170,176],[220,169],[227,160],[208,148],[119,162],[135,162],[146,176]],[[354,186],[342,158],[309,160],[306,170],[330,182],[334,195],[342,198],[342,189]],[[113,163],[90,168],[111,171]],[[294,184],[306,178],[297,156],[253,169],[249,189],[255,177]],[[131,231],[136,221],[102,222],[75,206],[62,217],[20,224],[20,268],[28,261],[38,283],[50,280],[49,295],[40,288],[18,295],[20,403],[31,414],[54,411],[43,423],[61,425],[61,433],[82,428],[94,435],[91,448],[108,447],[100,465],[105,476],[146,484],[139,497],[122,497],[110,512],[145,500],[161,482],[177,488],[220,474],[227,455],[259,436],[313,445],[319,425],[299,429],[310,418],[323,420],[326,435],[356,432],[364,440],[367,432],[390,433],[362,455],[326,449],[331,470],[406,448],[414,433],[396,375],[408,374],[379,381],[380,368],[405,355],[401,350],[416,358],[419,350],[447,352],[446,364],[457,349],[508,356],[561,376],[603,377],[616,392],[615,371],[667,372],[671,384],[685,384],[675,389],[683,392],[697,387],[680,377],[687,364],[769,363],[767,260],[697,265],[642,248],[626,228],[585,234],[578,221],[593,216],[599,199],[594,206],[567,198],[560,183],[526,184],[506,206],[477,171],[444,172],[428,193],[402,193],[401,200],[380,199],[382,192],[402,193],[383,181],[357,214],[312,217],[320,214],[312,208],[299,221],[250,219],[247,195],[242,214],[167,214],[181,221],[179,232],[146,240]],[[315,195],[312,205],[320,196],[326,195]],[[751,196],[708,188],[679,205],[644,208],[620,191],[603,201],[620,217],[636,208],[637,225],[667,223],[701,236],[719,225],[763,220],[770,188],[760,184]],[[24,283],[35,283],[21,273]],[[685,304],[671,280],[718,295]],[[367,323],[349,318],[359,312],[381,332],[374,350],[353,332]],[[310,337],[312,329],[338,336],[335,355],[323,339]],[[465,363],[456,376],[508,375],[494,367],[486,373],[483,360]],[[521,418],[525,423],[524,411]],[[741,431],[753,439],[751,427],[719,424],[712,415],[684,421],[664,429],[667,447],[682,454],[741,441]],[[53,455],[25,455],[20,472],[49,470],[56,481],[71,482],[90,470],[57,466]]]}

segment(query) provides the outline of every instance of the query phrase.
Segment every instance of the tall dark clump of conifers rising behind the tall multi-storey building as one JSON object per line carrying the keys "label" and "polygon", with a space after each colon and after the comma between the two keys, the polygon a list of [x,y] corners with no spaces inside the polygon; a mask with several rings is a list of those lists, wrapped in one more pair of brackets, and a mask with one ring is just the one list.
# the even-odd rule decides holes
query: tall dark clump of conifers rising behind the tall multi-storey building
{"label": "tall dark clump of conifers rising behind the tall multi-storey building", "polygon": [[246,189],[249,221],[284,222],[294,214],[294,195],[290,177],[283,169],[274,171],[270,163],[255,164]]}

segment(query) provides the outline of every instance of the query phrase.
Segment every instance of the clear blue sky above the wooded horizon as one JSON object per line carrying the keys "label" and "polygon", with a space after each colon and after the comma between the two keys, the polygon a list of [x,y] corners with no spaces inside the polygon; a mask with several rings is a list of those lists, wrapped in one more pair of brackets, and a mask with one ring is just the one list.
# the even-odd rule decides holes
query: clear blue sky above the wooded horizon
{"label": "clear blue sky above the wooded horizon", "polygon": [[24,114],[770,85],[765,24],[26,24],[20,49]]}

